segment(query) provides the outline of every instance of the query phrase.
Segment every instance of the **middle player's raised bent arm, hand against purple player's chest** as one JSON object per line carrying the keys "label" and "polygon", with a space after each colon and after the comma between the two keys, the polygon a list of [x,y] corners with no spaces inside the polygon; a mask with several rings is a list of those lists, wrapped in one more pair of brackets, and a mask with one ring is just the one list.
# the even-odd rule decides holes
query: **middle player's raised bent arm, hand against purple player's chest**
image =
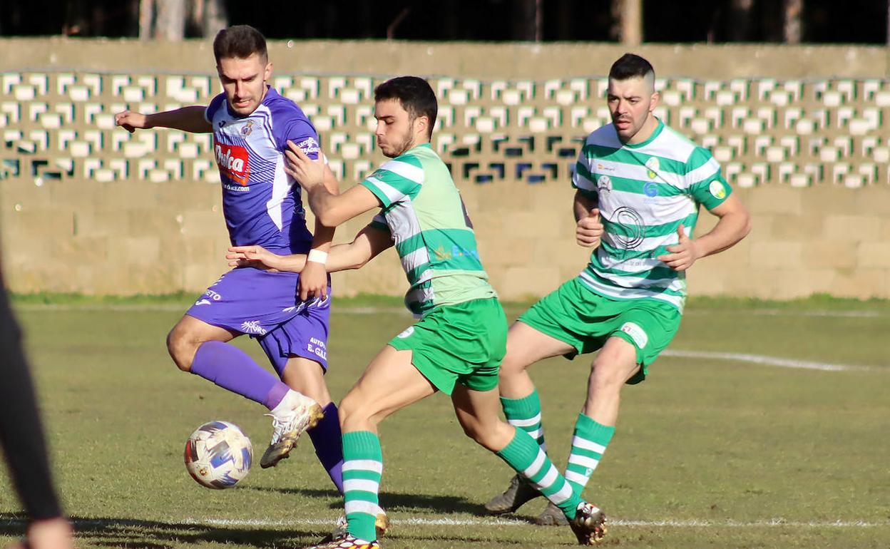
{"label": "middle player's raised bent arm, hand against purple player's chest", "polygon": [[321,224],[336,227],[356,215],[381,206],[380,200],[363,185],[353,185],[340,195],[331,194],[324,185],[325,164],[320,149],[318,159],[312,160],[293,141],[287,141],[285,157],[285,172],[306,190],[312,214]]}

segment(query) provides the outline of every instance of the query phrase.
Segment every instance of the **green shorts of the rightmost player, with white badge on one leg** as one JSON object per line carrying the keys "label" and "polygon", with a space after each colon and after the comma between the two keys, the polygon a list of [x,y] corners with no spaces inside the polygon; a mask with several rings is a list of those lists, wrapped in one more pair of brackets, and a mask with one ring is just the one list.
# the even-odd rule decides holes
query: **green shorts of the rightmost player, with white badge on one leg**
{"label": "green shorts of the rightmost player, with white badge on one leg", "polygon": [[569,343],[575,351],[566,354],[567,359],[597,351],[610,337],[620,337],[634,345],[640,365],[640,371],[627,383],[640,383],[649,374],[652,361],[674,339],[680,318],[680,311],[668,303],[608,299],[575,278],[532,305],[519,321]]}

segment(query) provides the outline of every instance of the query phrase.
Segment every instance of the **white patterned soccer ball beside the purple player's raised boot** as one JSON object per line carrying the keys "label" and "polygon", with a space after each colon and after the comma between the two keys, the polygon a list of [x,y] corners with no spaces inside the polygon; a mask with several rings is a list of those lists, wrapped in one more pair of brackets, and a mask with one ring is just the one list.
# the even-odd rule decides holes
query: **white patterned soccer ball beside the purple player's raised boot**
{"label": "white patterned soccer ball beside the purple player's raised boot", "polygon": [[250,439],[238,425],[212,421],[198,427],[185,443],[185,468],[207,488],[231,488],[247,476],[254,461]]}

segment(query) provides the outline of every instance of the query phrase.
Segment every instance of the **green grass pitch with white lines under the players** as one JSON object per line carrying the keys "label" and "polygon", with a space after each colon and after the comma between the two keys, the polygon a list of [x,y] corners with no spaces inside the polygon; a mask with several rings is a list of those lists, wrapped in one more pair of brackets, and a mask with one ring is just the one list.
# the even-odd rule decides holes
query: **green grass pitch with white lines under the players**
{"label": "green grass pitch with white lines under the players", "polygon": [[[198,424],[239,424],[257,456],[271,433],[261,407],[167,358],[164,337],[186,301],[44,301],[17,303],[78,546],[302,547],[332,527],[340,500],[309,440],[233,489],[201,488],[185,472],[182,448]],[[368,304],[376,312],[359,307]],[[511,318],[521,311],[508,308]],[[336,304],[336,399],[410,322],[388,300]],[[887,303],[693,301],[649,381],[624,392],[618,432],[585,493],[611,518],[604,545],[890,547],[888,335]],[[265,363],[254,342],[239,345]],[[531,370],[557,464],[588,364],[551,359]],[[806,368],[820,365],[852,368]],[[447,398],[392,416],[381,437],[381,502],[393,522],[385,548],[573,545],[569,529],[527,523],[543,500],[506,520],[482,516],[511,472],[465,438]],[[0,545],[20,535],[19,510],[0,484]]]}

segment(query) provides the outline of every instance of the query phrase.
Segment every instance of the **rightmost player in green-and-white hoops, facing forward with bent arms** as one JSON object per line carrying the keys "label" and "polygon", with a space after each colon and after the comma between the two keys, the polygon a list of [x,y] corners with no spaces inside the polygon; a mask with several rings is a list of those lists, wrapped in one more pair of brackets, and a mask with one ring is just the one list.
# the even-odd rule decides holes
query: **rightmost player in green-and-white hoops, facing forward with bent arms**
{"label": "rightmost player in green-and-white hoops, facing forward with bent arms", "polygon": [[[500,370],[510,424],[546,448],[538,392],[526,368],[549,357],[599,351],[578,415],[565,477],[576,493],[609,445],[625,383],[640,383],[680,326],[686,270],[748,234],[748,212],[707,149],[652,113],[659,101],[649,61],[625,54],[609,72],[612,123],[587,137],[572,186],[580,246],[593,248],[587,268],[526,311],[510,327]],[[699,206],[719,220],[697,238]],[[514,476],[490,513],[512,513],[538,497]],[[539,524],[562,524],[548,506]]]}

